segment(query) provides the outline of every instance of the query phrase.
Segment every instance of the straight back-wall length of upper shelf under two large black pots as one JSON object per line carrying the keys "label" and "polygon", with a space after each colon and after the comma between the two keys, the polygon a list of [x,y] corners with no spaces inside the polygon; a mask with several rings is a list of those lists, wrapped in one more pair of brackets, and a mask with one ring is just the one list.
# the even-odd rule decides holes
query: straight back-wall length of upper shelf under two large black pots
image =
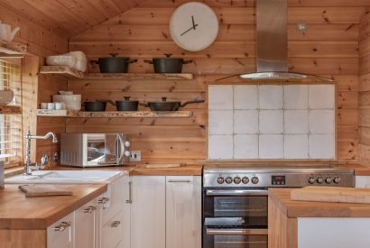
{"label": "straight back-wall length of upper shelf under two large black pots", "polygon": [[90,80],[191,80],[190,73],[88,73],[84,79]]}

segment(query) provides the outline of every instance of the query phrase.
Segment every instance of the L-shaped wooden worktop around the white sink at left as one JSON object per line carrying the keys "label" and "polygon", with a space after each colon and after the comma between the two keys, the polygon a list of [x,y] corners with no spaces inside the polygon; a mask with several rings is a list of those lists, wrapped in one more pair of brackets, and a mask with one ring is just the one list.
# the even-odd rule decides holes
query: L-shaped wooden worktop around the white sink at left
{"label": "L-shaped wooden worktop around the white sink at left", "polygon": [[0,189],[0,229],[45,229],[100,196],[106,184],[60,185],[73,196],[25,197],[18,185]]}

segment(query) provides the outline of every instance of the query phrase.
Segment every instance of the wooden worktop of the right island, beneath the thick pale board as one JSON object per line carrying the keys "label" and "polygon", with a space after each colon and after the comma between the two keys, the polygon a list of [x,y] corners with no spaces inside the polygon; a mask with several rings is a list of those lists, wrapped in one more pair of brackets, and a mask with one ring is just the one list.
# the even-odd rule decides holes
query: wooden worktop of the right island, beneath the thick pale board
{"label": "wooden worktop of the right island, beneath the thick pale board", "polygon": [[370,217],[370,204],[292,201],[291,188],[270,188],[269,197],[291,218]]}

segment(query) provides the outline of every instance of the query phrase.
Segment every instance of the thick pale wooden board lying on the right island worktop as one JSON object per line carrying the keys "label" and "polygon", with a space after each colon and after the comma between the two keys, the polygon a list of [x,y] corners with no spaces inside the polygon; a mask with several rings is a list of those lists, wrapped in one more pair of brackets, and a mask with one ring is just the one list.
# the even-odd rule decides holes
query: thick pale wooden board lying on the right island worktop
{"label": "thick pale wooden board lying on the right island worktop", "polygon": [[315,187],[291,190],[291,200],[370,203],[370,188]]}

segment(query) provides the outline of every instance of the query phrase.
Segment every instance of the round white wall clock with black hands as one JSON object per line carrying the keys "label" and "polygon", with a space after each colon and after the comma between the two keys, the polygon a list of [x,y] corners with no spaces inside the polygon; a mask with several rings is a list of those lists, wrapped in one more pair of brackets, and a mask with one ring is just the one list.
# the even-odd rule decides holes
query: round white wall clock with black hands
{"label": "round white wall clock with black hands", "polygon": [[218,19],[213,10],[205,4],[190,2],[180,5],[170,20],[172,40],[186,51],[201,51],[218,34]]}

